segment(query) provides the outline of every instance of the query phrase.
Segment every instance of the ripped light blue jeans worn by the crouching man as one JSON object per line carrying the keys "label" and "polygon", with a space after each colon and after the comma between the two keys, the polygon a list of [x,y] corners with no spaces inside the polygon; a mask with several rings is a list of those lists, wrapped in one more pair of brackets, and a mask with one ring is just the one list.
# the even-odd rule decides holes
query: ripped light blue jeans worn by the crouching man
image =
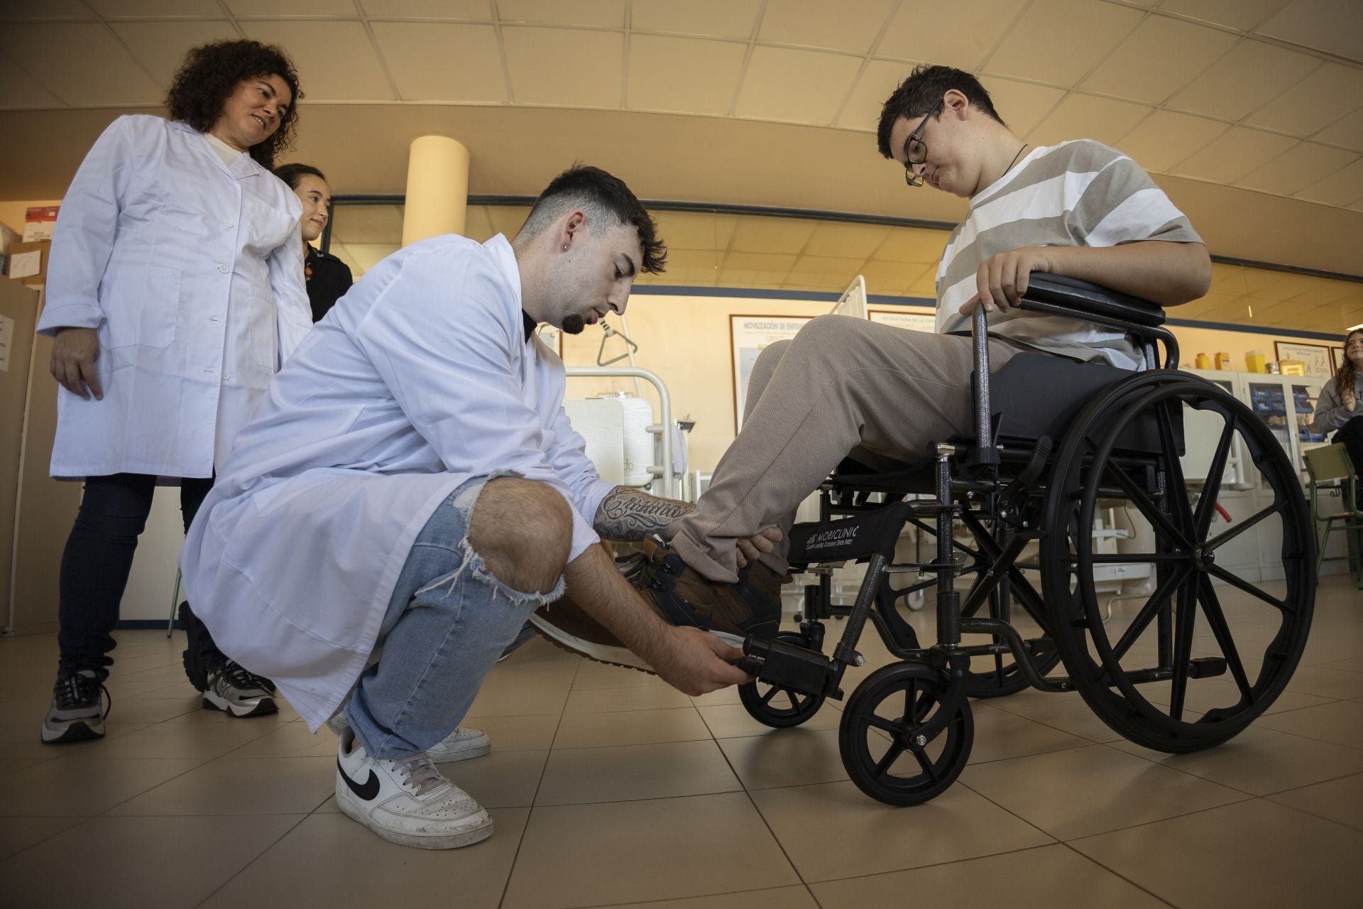
{"label": "ripped light blue jeans worn by the crouching man", "polygon": [[512,590],[469,545],[473,506],[489,478],[473,477],[440,503],[393,589],[383,653],[345,709],[375,758],[410,758],[454,732],[530,613],[563,594],[563,578],[549,593]]}

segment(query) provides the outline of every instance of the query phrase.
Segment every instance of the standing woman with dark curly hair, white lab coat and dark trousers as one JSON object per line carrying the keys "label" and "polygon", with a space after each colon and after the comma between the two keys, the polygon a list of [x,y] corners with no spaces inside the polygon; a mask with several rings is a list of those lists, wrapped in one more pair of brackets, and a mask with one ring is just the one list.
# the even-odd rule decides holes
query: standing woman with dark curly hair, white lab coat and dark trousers
{"label": "standing woman with dark curly hair, white lab coat and dark trousers", "polygon": [[[57,215],[38,330],[61,384],[50,473],[85,480],[60,574],[60,664],[48,743],[104,735],[102,681],[158,478],[185,529],[214,467],[312,324],[301,204],[269,168],[289,147],[298,76],[278,48],[191,50],[170,117],[114,120]],[[191,591],[192,596],[192,591]],[[266,679],[228,660],[181,606],[203,706],[274,713]]]}

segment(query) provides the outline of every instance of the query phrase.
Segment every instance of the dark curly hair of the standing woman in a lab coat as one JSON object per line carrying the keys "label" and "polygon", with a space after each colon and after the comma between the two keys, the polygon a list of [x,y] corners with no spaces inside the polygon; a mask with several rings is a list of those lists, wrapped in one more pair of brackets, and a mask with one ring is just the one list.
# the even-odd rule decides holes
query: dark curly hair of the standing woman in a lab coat
{"label": "dark curly hair of the standing woman in a lab coat", "polygon": [[170,119],[184,120],[199,132],[207,132],[222,114],[224,102],[244,79],[270,75],[284,79],[293,101],[279,117],[279,128],[248,149],[256,164],[269,170],[275,155],[293,147],[298,98],[303,97],[298,74],[282,49],[259,41],[215,41],[194,48],[184,56],[180,72],[166,93]]}

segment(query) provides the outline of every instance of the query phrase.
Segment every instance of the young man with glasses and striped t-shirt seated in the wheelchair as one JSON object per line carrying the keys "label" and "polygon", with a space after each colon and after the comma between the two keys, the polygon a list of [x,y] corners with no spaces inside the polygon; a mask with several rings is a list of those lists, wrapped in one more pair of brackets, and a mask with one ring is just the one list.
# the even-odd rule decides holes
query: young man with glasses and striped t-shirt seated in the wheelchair
{"label": "young man with glasses and striped t-shirt seated in the wheelchair", "polygon": [[[662,534],[635,572],[641,589],[676,620],[774,634],[784,542],[741,566],[735,542],[789,530],[800,502],[849,452],[872,466],[913,461],[934,440],[970,432],[969,313],[990,320],[990,365],[1020,350],[1139,365],[1118,331],[1018,311],[1032,271],[1092,281],[1163,305],[1206,293],[1212,263],[1187,218],[1129,157],[1079,139],[1030,149],[968,72],[919,67],[885,102],[880,154],[923,183],[969,199],[938,268],[936,327],[905,331],[846,316],[819,316],[791,342],[763,349],[748,386],[743,431],[696,507]],[[570,593],[581,601],[581,591]],[[590,605],[590,604],[586,604]],[[559,616],[555,619],[555,616]],[[590,635],[567,627],[567,606],[537,613],[547,635],[589,657]]]}

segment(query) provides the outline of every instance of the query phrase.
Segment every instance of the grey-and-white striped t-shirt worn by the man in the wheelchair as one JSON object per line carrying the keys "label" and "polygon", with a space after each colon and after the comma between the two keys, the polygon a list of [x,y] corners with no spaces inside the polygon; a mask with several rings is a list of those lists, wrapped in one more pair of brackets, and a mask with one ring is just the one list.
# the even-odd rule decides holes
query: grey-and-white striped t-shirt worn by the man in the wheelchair
{"label": "grey-and-white striped t-shirt worn by the man in the wheelchair", "polygon": [[[1138,164],[1090,139],[1033,149],[1018,165],[970,199],[966,215],[938,267],[936,330],[969,331],[960,308],[977,292],[980,263],[1020,247],[1115,247],[1139,240],[1201,243]],[[1135,345],[1119,331],[1075,319],[1013,309],[990,315],[990,334],[1075,360],[1141,365]]]}

